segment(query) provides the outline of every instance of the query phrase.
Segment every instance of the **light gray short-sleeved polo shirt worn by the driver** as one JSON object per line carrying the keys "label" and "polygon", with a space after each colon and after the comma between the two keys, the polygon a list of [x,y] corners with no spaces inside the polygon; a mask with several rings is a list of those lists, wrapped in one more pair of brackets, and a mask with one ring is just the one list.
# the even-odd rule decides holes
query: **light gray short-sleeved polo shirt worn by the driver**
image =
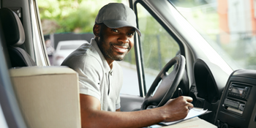
{"label": "light gray short-sleeved polo shirt worn by the driver", "polygon": [[113,68],[110,69],[94,39],[90,44],[81,45],[61,65],[78,72],[80,94],[99,99],[101,110],[116,111],[121,107],[122,69],[116,61],[113,61]]}

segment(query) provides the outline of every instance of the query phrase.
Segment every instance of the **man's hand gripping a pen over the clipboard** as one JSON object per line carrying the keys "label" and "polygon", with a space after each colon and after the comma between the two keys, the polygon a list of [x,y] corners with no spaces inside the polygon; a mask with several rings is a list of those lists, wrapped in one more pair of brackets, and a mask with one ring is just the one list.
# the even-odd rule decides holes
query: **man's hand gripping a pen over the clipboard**
{"label": "man's hand gripping a pen over the clipboard", "polygon": [[164,113],[167,115],[165,121],[178,121],[187,116],[189,109],[192,109],[191,97],[177,97],[176,99],[170,99],[163,108]]}

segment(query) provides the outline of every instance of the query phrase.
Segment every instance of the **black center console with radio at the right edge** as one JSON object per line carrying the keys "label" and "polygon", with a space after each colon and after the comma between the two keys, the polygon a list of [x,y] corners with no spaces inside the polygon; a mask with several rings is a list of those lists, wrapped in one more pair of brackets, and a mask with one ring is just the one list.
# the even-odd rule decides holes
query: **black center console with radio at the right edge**
{"label": "black center console with radio at the right edge", "polygon": [[220,128],[256,127],[256,71],[236,70],[227,80],[215,124]]}

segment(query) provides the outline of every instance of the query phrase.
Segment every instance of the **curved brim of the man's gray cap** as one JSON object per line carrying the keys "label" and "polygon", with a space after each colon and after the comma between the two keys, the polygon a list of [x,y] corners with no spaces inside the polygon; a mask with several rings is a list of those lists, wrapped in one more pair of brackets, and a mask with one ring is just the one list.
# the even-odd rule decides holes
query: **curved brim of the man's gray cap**
{"label": "curved brim of the man's gray cap", "polygon": [[108,28],[111,29],[116,29],[116,28],[121,28],[121,27],[132,27],[135,29],[135,31],[137,31],[137,33],[139,34],[139,36],[141,37],[141,33],[140,30],[136,28],[136,26],[132,26],[131,24],[127,23],[127,21],[124,20],[105,20],[103,22],[106,26],[108,26]]}

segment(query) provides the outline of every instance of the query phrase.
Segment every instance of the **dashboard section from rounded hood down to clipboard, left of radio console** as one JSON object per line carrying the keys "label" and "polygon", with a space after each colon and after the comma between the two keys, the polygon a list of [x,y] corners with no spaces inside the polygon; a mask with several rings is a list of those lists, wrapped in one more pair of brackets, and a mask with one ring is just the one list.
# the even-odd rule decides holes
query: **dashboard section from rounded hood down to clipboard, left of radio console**
{"label": "dashboard section from rounded hood down to clipboard, left of radio console", "polygon": [[214,124],[222,91],[229,74],[211,61],[196,59],[194,63],[196,97],[193,105],[197,108],[210,110],[211,113],[200,116],[200,118]]}

